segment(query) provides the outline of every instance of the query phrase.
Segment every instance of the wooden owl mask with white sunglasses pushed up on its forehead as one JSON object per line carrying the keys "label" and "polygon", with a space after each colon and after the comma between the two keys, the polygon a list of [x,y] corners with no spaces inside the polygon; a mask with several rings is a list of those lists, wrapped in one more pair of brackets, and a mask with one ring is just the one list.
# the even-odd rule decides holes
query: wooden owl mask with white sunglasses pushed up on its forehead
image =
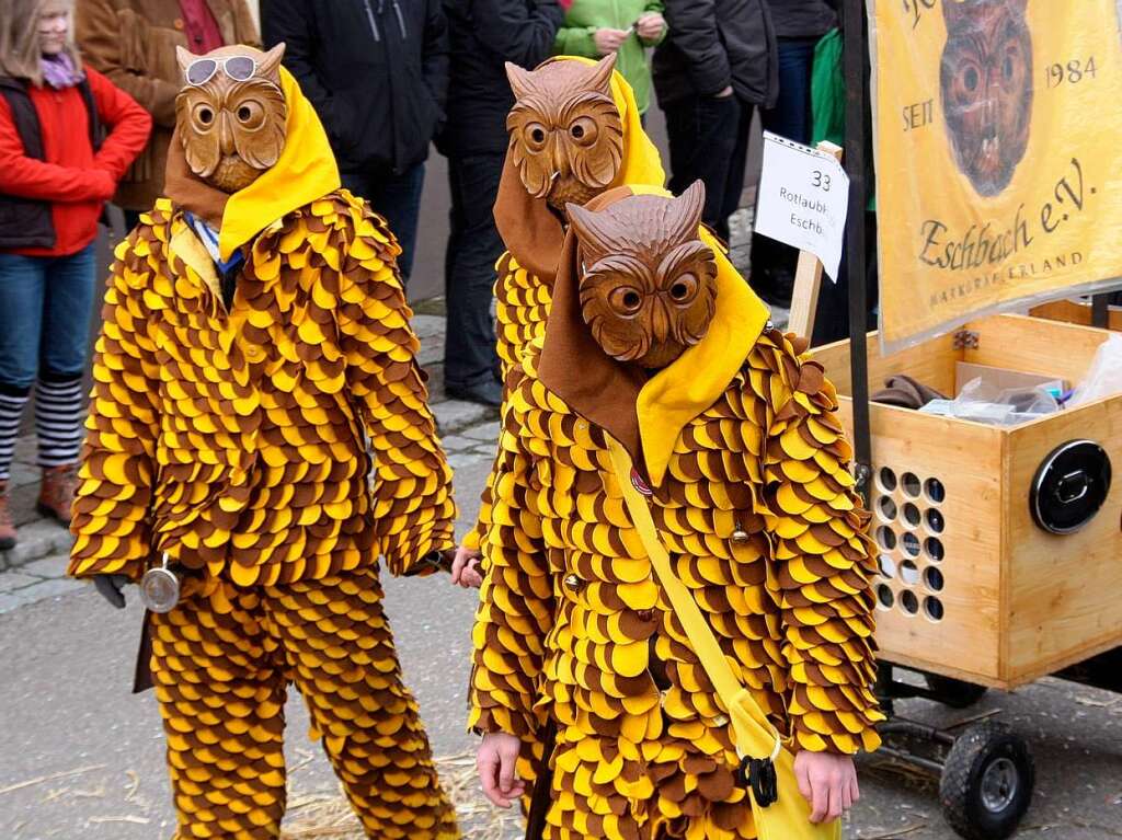
{"label": "wooden owl mask with white sunglasses pushed up on its forehead", "polygon": [[284,44],[268,53],[237,46],[203,56],[176,47],[176,56],[185,85],[175,99],[175,118],[187,166],[215,190],[236,193],[275,165],[284,149]]}

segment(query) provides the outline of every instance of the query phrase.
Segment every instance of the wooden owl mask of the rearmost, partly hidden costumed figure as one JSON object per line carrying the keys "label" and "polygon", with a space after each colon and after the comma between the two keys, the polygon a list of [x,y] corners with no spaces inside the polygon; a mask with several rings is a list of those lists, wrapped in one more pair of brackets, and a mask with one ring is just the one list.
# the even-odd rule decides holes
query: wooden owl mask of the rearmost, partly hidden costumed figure
{"label": "wooden owl mask of the rearmost, partly hidden costumed figure", "polygon": [[619,173],[624,127],[611,98],[616,56],[599,64],[546,62],[534,71],[506,65],[515,103],[506,119],[523,185],[557,210],[585,204]]}

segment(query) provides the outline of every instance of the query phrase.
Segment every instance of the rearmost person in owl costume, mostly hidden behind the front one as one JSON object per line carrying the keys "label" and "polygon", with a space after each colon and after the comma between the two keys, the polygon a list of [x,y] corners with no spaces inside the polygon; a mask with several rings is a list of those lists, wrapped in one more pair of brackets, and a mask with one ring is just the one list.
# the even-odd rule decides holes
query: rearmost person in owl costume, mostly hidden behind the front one
{"label": "rearmost person in owl costume, mostly hidden behind the front one", "polygon": [[[615,70],[615,53],[599,62],[562,56],[533,71],[507,64],[515,104],[495,203],[506,251],[496,264],[496,350],[504,379],[523,350],[545,333],[551,289],[568,227],[567,205],[585,204],[624,184],[665,181],[659,150],[643,130],[631,85]],[[506,412],[507,389],[504,387]],[[478,587],[479,539],[486,528],[490,488],[479,521],[463,539],[453,582]]]}

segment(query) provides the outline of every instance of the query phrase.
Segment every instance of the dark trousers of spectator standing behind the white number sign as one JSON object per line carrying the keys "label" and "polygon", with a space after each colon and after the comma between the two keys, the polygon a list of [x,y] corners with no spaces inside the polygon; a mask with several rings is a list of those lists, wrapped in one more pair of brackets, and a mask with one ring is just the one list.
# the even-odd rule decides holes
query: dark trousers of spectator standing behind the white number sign
{"label": "dark trousers of spectator standing behind the white number sign", "polygon": [[[765,131],[795,142],[809,144],[813,129],[810,112],[810,72],[815,65],[817,38],[779,39],[779,100],[774,108],[762,109],[760,121]],[[794,275],[799,251],[767,237],[752,238],[752,274]]]}

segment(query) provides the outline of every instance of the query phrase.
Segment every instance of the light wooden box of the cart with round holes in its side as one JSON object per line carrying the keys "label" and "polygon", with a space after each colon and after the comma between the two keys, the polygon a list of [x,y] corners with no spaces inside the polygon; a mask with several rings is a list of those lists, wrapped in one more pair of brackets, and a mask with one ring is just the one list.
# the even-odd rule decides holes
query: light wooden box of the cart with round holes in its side
{"label": "light wooden box of the cart with round holes in its side", "polygon": [[[1103,331],[1020,316],[966,327],[889,359],[868,339],[870,382],[908,373],[944,393],[955,362],[1079,381]],[[848,342],[815,352],[849,389]],[[840,399],[852,431],[852,400]],[[877,640],[886,659],[996,687],[1014,687],[1122,644],[1122,397],[1012,428],[873,405],[873,533],[881,546]],[[1047,534],[1029,487],[1054,449],[1100,443],[1115,480],[1082,532]]]}

